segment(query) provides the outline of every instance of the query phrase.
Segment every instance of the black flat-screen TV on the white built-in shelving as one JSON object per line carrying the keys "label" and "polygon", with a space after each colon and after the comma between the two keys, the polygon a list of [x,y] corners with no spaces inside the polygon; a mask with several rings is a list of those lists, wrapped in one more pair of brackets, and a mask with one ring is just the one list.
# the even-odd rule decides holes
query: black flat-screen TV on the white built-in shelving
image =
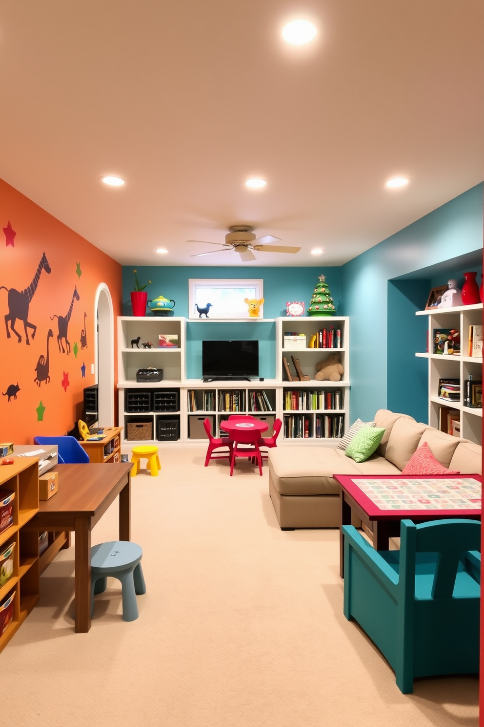
{"label": "black flat-screen TV on the white built-in shelving", "polygon": [[259,375],[258,341],[202,341],[204,379],[248,379]]}

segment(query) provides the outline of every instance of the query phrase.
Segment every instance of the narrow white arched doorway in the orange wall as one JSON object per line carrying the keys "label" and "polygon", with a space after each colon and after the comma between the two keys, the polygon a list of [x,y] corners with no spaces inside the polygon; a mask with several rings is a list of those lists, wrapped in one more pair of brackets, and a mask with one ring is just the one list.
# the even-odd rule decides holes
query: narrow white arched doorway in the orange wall
{"label": "narrow white arched doorway in the orange wall", "polygon": [[94,298],[94,366],[98,384],[99,426],[114,426],[114,311],[110,290],[105,283],[97,286]]}

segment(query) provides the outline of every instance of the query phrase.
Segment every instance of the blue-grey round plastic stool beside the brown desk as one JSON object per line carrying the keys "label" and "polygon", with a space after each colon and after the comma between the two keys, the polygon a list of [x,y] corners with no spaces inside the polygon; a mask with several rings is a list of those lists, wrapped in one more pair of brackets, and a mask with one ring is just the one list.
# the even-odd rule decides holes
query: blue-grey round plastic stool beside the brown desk
{"label": "blue-grey round plastic stool beside the brown desk", "polygon": [[106,590],[107,576],[117,578],[123,589],[123,621],[138,618],[136,594],[146,593],[139,545],[129,540],[112,540],[91,548],[91,616],[94,611],[94,593]]}

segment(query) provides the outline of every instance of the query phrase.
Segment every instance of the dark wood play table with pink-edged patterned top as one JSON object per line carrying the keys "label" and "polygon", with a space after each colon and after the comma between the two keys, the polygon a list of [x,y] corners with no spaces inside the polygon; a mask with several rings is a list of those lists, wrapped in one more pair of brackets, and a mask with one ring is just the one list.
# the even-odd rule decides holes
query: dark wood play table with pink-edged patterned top
{"label": "dark wood play table with pink-edged patterned top", "polygon": [[[341,525],[351,513],[373,531],[375,550],[388,550],[388,539],[400,536],[400,523],[443,518],[480,520],[481,475],[333,475],[340,484]],[[340,576],[345,552],[340,528]]]}

